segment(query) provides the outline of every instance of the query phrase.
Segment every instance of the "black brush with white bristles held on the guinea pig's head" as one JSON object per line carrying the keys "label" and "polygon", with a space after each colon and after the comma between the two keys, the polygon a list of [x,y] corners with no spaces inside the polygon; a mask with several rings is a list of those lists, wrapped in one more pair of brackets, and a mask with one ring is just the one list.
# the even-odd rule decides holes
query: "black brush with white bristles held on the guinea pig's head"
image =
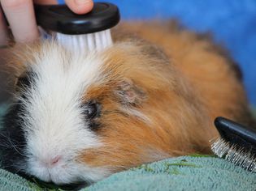
{"label": "black brush with white bristles held on the guinea pig's head", "polygon": [[37,24],[65,48],[75,52],[102,50],[113,42],[110,28],[119,23],[119,9],[96,2],[93,10],[76,15],[66,5],[35,6]]}

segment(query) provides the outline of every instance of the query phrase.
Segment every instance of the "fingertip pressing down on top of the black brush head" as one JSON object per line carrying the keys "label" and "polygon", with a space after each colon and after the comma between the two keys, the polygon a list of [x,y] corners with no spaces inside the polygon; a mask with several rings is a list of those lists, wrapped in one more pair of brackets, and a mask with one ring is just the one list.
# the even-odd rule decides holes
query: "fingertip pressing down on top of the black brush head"
{"label": "fingertip pressing down on top of the black brush head", "polygon": [[85,14],[93,9],[93,0],[66,0],[65,2],[76,14]]}

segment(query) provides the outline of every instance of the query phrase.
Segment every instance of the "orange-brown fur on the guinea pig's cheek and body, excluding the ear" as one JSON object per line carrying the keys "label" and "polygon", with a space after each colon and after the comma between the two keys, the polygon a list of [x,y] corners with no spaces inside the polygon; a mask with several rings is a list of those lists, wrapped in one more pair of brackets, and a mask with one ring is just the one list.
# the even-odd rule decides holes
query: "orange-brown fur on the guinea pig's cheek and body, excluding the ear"
{"label": "orange-brown fur on the guinea pig's cheek and body, excluding the ear", "polygon": [[[81,161],[118,172],[168,156],[210,153],[209,141],[218,136],[215,117],[251,119],[231,60],[208,38],[158,24],[126,23],[121,29],[153,45],[118,35],[117,41],[126,42],[116,43],[106,53],[103,73],[108,78],[102,87],[87,92],[102,97],[102,128],[97,134],[103,146],[85,151]],[[124,108],[113,94],[123,79],[141,87],[147,99]],[[150,121],[125,112],[129,109]]]}

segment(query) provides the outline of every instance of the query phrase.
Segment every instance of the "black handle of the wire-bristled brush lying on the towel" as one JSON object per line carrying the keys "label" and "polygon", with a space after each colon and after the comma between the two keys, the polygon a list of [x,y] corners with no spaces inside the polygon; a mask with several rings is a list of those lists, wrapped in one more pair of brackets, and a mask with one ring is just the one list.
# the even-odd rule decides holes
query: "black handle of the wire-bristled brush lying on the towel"
{"label": "black handle of the wire-bristled brush lying on the towel", "polygon": [[231,121],[224,117],[215,119],[215,126],[221,138],[245,150],[256,153],[256,129]]}

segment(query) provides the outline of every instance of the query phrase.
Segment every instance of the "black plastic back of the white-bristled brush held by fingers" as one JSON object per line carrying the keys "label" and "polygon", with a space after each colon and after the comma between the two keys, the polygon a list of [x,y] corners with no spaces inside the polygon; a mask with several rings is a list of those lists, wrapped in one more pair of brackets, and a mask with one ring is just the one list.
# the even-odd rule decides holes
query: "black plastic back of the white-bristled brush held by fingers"
{"label": "black plastic back of the white-bristled brush held by fingers", "polygon": [[73,13],[66,5],[35,5],[35,13],[41,28],[68,35],[101,32],[120,20],[118,7],[108,2],[95,2],[85,15]]}

